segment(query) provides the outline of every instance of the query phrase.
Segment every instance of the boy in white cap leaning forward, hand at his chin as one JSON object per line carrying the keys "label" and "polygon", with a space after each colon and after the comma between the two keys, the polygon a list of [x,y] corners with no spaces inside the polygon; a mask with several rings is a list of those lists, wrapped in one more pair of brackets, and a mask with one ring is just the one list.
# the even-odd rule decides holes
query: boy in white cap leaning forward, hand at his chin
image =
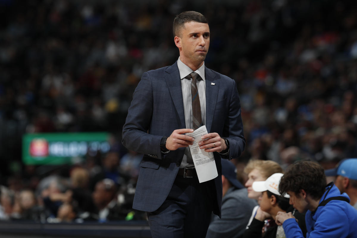
{"label": "boy in white cap leaning forward, hand at his chin", "polygon": [[[289,204],[289,195],[281,196],[278,192],[280,178],[282,173],[275,173],[266,181],[253,182],[252,188],[256,192],[262,192],[259,198],[260,207],[257,210],[252,223],[243,234],[243,238],[264,237],[264,238],[285,238],[285,233],[282,226],[275,224],[275,216],[278,212],[295,212]],[[294,213],[297,217],[299,226],[302,231],[306,232],[304,215],[298,212]],[[268,226],[262,233],[262,229],[266,224],[265,220],[270,219]]]}

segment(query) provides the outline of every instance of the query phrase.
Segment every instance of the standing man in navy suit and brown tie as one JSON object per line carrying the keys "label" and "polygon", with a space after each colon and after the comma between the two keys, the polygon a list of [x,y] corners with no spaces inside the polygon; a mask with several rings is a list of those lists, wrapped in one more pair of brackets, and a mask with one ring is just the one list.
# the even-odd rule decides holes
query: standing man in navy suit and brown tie
{"label": "standing man in navy suit and brown tie", "polygon": [[[205,237],[211,212],[221,216],[221,158],[239,157],[245,147],[240,100],[234,80],[205,67],[210,45],[206,18],[182,12],[175,17],[173,31],[180,57],[171,66],[142,75],[122,143],[144,154],[133,208],[147,212],[152,236]],[[213,152],[218,172],[218,177],[202,183],[188,147],[194,139],[185,135],[197,122],[191,98],[196,77],[199,123],[208,132],[199,145]]]}

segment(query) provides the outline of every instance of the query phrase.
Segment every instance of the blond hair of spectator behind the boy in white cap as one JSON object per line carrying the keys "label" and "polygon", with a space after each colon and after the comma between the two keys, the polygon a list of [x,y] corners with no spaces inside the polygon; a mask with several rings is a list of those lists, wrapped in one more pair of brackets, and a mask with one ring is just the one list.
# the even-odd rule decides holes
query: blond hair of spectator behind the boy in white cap
{"label": "blond hair of spectator behind the boy in white cap", "polygon": [[283,173],[281,166],[272,160],[252,159],[244,168],[244,172],[248,174],[253,169],[258,169],[265,179],[269,178],[274,173]]}

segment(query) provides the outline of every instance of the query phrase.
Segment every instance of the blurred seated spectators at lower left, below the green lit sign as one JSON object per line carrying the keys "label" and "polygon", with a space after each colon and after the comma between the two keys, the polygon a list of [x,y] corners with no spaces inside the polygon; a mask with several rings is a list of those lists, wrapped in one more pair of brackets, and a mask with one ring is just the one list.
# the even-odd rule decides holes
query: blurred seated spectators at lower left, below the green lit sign
{"label": "blurred seated spectators at lower left, below the green lit sign", "polygon": [[[101,159],[100,159],[101,158]],[[110,151],[84,163],[50,168],[41,176],[35,166],[0,186],[0,220],[36,222],[110,222],[146,219],[132,199],[140,155]],[[128,163],[128,160],[130,162]],[[99,166],[98,164],[101,164]],[[49,168],[46,168],[49,169]]]}

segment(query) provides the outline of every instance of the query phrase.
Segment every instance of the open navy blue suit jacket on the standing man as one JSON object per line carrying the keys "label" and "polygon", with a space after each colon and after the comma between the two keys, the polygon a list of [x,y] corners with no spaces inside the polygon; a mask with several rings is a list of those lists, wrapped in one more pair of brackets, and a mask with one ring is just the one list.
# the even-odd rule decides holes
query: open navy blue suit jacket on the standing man
{"label": "open navy blue suit jacket on the standing man", "polygon": [[[241,107],[236,83],[229,77],[205,67],[206,128],[226,137],[230,144],[228,159],[239,157],[245,147]],[[214,85],[212,85],[214,83]],[[135,89],[122,133],[129,150],[144,154],[140,163],[133,208],[153,212],[165,201],[174,183],[185,148],[162,154],[160,141],[176,129],[186,128],[180,73],[174,65],[145,72]],[[218,176],[214,179],[220,216],[222,201],[221,155],[213,153]]]}

